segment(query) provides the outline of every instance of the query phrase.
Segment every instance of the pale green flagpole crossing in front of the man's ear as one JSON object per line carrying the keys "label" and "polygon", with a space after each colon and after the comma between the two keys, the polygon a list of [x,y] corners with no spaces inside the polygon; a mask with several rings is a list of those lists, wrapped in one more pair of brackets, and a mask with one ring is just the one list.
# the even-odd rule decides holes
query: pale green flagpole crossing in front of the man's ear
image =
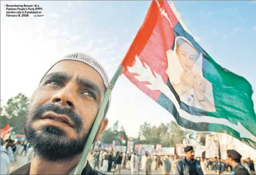
{"label": "pale green flagpole crossing in front of the man's ear", "polygon": [[102,103],[101,103],[101,105],[99,107],[97,116],[96,116],[96,118],[95,118],[95,120],[93,122],[93,125],[91,127],[91,131],[89,133],[86,145],[83,148],[82,156],[81,156],[81,158],[79,160],[79,163],[77,164],[77,167],[75,169],[75,173],[74,173],[75,175],[81,175],[81,173],[83,171],[84,165],[85,165],[86,160],[87,160],[88,153],[90,151],[91,144],[93,143],[93,140],[94,140],[94,138],[96,136],[96,133],[98,131],[98,127],[100,125],[100,122],[103,119],[104,111],[105,111],[108,99],[110,97],[111,91],[113,90],[113,87],[114,87],[118,77],[120,76],[120,73],[121,73],[122,70],[123,70],[123,66],[119,65],[117,70],[116,70],[116,72],[115,72],[115,74],[114,74],[114,76],[113,76],[113,78],[111,79],[110,83],[107,86],[107,89],[106,89],[106,92],[105,92],[105,96],[104,96],[104,98],[102,100]]}

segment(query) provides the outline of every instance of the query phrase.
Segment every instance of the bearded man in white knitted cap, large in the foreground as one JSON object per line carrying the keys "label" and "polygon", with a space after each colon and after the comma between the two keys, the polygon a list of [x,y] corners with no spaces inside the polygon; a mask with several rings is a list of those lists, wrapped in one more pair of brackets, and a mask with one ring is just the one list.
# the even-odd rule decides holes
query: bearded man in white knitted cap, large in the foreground
{"label": "bearded man in white knitted cap, large in the foreground", "polygon": [[[25,136],[34,149],[31,163],[11,174],[74,174],[108,83],[103,67],[85,54],[69,54],[55,63],[34,91],[25,116]],[[101,121],[95,140],[107,123]],[[84,165],[82,175],[101,174],[88,161]]]}

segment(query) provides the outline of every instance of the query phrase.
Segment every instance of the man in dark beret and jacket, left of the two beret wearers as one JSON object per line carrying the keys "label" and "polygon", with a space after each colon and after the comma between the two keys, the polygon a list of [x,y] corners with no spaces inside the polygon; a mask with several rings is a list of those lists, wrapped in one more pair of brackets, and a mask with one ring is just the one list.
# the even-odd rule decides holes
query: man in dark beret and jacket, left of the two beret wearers
{"label": "man in dark beret and jacket, left of the two beret wearers", "polygon": [[175,174],[177,175],[203,175],[200,162],[195,160],[195,153],[192,146],[184,148],[186,157],[177,163]]}

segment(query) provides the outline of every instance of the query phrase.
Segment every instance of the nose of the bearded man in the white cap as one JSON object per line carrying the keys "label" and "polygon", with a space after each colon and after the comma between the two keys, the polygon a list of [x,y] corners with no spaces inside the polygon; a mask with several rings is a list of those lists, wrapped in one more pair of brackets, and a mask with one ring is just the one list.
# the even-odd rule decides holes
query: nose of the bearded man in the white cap
{"label": "nose of the bearded man in the white cap", "polygon": [[74,98],[74,87],[72,85],[67,85],[56,94],[53,95],[51,101],[53,104],[67,107],[68,109],[75,109],[76,102]]}

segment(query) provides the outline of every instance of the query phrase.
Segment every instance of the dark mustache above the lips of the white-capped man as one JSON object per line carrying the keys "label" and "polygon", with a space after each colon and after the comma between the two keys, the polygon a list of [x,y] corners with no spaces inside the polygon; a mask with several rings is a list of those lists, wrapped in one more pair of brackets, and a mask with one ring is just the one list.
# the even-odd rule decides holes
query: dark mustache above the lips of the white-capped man
{"label": "dark mustache above the lips of the white-capped man", "polygon": [[54,104],[45,104],[36,108],[35,111],[32,112],[33,118],[40,118],[45,112],[55,112],[56,114],[67,115],[74,123],[74,127],[77,131],[83,129],[83,120],[75,111]]}

